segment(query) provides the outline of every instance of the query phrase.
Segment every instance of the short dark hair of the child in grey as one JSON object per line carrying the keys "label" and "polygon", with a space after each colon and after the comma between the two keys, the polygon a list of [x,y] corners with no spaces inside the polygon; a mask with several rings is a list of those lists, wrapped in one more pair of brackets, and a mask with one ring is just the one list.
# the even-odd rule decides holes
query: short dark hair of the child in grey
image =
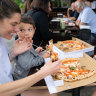
{"label": "short dark hair of the child in grey", "polygon": [[33,27],[35,28],[34,21],[33,21],[32,17],[29,16],[29,15],[26,15],[26,14],[22,15],[20,22],[22,22],[22,23],[27,23],[27,24],[31,24],[31,25],[33,25]]}

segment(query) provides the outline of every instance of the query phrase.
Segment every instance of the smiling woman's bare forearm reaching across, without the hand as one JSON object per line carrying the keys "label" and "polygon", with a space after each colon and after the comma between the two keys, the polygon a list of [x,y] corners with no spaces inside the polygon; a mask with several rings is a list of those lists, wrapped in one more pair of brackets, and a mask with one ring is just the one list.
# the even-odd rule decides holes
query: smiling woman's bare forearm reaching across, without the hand
{"label": "smiling woman's bare forearm reaching across, without the hand", "polygon": [[18,93],[21,93],[23,90],[29,88],[31,85],[41,80],[43,76],[41,77],[40,74],[42,74],[42,72],[39,71],[36,74],[24,79],[0,85],[0,95],[14,96]]}

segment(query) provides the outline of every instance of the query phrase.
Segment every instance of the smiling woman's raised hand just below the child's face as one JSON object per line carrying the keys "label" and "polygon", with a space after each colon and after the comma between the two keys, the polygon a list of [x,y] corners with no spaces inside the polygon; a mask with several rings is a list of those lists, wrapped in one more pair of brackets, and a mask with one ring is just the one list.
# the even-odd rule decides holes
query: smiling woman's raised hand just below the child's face
{"label": "smiling woman's raised hand just below the child's face", "polygon": [[14,43],[14,47],[11,51],[12,56],[16,57],[17,55],[28,51],[32,48],[32,43],[33,41],[30,38],[16,40]]}

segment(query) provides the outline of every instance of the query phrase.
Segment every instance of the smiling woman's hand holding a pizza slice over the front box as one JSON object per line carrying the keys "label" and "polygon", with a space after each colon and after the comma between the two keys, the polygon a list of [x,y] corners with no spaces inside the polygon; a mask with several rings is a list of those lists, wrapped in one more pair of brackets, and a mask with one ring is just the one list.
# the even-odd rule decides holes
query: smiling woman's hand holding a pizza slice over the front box
{"label": "smiling woman's hand holding a pizza slice over the front box", "polygon": [[44,75],[51,75],[54,74],[56,72],[58,72],[58,70],[60,69],[61,66],[61,60],[58,60],[54,63],[52,63],[52,61],[48,61],[42,68],[41,71],[44,71]]}

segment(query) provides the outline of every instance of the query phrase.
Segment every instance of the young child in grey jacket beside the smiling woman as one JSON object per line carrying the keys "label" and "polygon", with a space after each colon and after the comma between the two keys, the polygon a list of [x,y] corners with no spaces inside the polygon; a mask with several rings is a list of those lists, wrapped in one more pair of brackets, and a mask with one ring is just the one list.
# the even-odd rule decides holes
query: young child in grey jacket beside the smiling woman
{"label": "young child in grey jacket beside the smiling woman", "polygon": [[[18,33],[20,38],[33,38],[35,32],[35,25],[30,16],[23,15],[20,23],[20,32]],[[43,57],[41,57],[38,53],[42,51],[42,48],[31,48],[23,54],[20,54],[16,58],[16,65],[13,73],[13,77],[15,80],[24,78],[28,76],[28,73],[32,67],[39,66],[45,63],[44,58],[50,56],[48,52],[46,52]]]}

